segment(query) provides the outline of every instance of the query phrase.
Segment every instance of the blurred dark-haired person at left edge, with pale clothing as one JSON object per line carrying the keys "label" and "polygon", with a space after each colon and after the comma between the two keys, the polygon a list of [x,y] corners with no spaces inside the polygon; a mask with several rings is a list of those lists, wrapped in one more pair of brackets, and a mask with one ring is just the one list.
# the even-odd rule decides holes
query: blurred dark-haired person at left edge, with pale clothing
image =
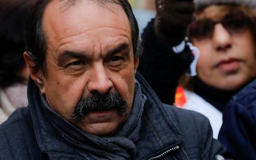
{"label": "blurred dark-haired person at left edge, with pale clothing", "polygon": [[27,106],[28,69],[23,59],[30,0],[0,0],[0,123]]}

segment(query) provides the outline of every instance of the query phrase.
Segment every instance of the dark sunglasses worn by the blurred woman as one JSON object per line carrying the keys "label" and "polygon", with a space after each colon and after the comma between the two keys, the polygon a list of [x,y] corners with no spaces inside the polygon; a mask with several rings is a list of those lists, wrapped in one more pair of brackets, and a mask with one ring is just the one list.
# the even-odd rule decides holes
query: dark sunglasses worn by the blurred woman
{"label": "dark sunglasses worn by the blurred woman", "polygon": [[212,38],[214,26],[217,23],[221,23],[230,35],[244,33],[253,24],[245,13],[241,11],[230,12],[220,21],[202,19],[192,22],[189,25],[188,37],[197,40]]}

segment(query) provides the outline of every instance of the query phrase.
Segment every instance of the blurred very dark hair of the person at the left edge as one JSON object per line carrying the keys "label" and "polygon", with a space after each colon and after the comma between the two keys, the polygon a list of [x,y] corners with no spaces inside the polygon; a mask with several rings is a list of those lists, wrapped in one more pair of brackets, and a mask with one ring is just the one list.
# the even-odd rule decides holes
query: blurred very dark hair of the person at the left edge
{"label": "blurred very dark hair of the person at the left edge", "polygon": [[0,86],[23,82],[19,71],[25,67],[25,27],[33,0],[0,1]]}

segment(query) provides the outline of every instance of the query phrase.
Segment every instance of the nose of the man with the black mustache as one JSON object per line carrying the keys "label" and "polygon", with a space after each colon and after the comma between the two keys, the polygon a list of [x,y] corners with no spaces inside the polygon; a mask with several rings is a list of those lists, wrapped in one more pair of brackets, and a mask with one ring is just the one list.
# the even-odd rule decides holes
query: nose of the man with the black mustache
{"label": "nose of the man with the black mustache", "polygon": [[113,87],[113,82],[110,80],[110,71],[104,68],[103,65],[97,65],[91,70],[88,82],[88,90],[90,92],[98,91],[100,94],[105,94]]}

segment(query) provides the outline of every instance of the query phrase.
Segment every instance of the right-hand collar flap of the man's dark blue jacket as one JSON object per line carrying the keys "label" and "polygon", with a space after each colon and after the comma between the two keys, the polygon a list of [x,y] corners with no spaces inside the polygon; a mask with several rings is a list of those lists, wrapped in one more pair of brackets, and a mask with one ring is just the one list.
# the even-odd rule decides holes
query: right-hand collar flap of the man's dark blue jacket
{"label": "right-hand collar flap of the man's dark blue jacket", "polygon": [[156,93],[139,73],[137,73],[136,79],[141,84],[142,93],[148,99],[142,115],[140,139],[136,143],[137,158],[148,159],[167,150],[178,149],[179,147],[175,147],[181,145],[183,138],[173,123],[173,113],[165,110]]}

